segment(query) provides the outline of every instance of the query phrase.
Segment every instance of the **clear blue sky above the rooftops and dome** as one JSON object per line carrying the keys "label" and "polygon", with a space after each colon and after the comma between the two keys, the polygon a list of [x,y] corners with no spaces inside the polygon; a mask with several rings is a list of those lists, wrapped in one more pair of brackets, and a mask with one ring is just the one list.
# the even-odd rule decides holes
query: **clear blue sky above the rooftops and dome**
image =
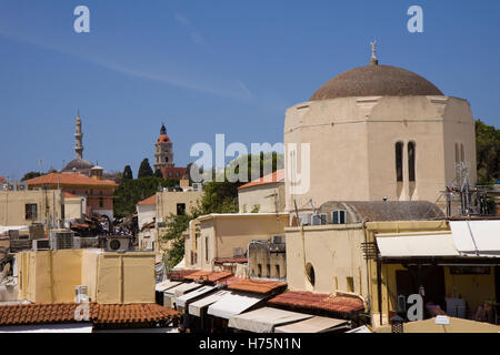
{"label": "clear blue sky above the rooftops and dome", "polygon": [[[90,9],[76,33],[73,9]],[[407,9],[423,9],[423,33]],[[196,142],[281,142],[287,108],[336,74],[402,67],[500,126],[500,1],[0,0],[0,175],[83,156],[108,171],[153,161],[161,122],[179,166]]]}

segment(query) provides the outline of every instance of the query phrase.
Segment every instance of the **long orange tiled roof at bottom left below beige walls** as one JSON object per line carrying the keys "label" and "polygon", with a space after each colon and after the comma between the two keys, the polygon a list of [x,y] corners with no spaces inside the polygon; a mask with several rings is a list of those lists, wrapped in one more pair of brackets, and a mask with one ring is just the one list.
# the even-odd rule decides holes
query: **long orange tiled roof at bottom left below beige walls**
{"label": "long orange tiled roof at bottom left below beige walls", "polygon": [[[77,303],[18,304],[0,306],[0,325],[36,325],[76,323]],[[154,303],[97,304],[90,303],[90,322],[96,326],[130,327],[166,324],[179,313]]]}

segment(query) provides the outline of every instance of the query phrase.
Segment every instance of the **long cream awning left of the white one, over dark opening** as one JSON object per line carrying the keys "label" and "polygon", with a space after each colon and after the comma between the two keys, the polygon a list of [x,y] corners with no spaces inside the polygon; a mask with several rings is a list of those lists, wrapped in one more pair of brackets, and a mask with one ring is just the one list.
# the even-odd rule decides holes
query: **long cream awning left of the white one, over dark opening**
{"label": "long cream awning left of the white one, over dark opening", "polygon": [[382,257],[460,256],[449,233],[377,233],[376,237]]}

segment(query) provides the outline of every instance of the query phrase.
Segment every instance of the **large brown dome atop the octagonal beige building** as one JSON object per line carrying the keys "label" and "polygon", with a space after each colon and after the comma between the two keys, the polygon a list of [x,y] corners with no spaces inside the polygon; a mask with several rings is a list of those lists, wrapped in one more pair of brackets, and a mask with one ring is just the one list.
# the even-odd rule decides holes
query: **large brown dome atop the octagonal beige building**
{"label": "large brown dome atop the octagonal beige building", "polygon": [[350,97],[442,95],[429,80],[406,69],[371,64],[334,77],[309,101]]}

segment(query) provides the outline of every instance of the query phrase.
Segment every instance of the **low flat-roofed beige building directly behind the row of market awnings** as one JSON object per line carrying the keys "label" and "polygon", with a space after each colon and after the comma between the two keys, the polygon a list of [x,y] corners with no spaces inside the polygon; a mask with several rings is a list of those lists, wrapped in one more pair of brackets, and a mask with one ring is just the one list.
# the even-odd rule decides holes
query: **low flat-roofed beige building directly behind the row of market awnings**
{"label": "low flat-roofed beige building directly behind the row of market awnings", "polygon": [[253,240],[283,234],[288,213],[208,214],[189,224],[184,245],[188,268],[212,270],[218,260],[241,257]]}

